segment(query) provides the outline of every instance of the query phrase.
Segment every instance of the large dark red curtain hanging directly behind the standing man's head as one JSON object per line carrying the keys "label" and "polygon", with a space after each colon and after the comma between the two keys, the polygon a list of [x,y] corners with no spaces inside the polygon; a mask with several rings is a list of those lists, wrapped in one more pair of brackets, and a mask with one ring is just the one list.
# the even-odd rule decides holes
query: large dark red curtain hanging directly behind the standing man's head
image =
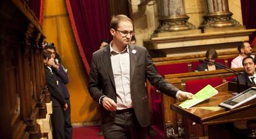
{"label": "large dark red curtain hanging directly behind the standing man's head", "polygon": [[108,0],[66,0],[75,41],[83,64],[90,71],[92,54],[100,47],[101,39],[110,39]]}

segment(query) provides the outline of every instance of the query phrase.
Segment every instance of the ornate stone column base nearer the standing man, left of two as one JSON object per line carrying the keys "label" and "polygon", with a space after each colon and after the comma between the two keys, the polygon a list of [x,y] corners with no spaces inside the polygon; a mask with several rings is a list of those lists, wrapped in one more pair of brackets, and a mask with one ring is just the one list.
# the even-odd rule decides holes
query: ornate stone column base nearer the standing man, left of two
{"label": "ornate stone column base nearer the standing man, left of two", "polygon": [[160,26],[155,33],[195,29],[187,22],[189,17],[184,9],[184,0],[158,0],[158,13]]}

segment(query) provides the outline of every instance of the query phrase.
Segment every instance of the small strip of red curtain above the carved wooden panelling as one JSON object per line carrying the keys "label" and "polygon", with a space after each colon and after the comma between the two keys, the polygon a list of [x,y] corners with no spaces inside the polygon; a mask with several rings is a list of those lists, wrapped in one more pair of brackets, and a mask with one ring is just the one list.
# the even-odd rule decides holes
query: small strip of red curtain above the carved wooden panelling
{"label": "small strip of red curtain above the carved wooden panelling", "polygon": [[43,0],[40,1],[28,1],[28,6],[35,13],[40,23],[43,23]]}

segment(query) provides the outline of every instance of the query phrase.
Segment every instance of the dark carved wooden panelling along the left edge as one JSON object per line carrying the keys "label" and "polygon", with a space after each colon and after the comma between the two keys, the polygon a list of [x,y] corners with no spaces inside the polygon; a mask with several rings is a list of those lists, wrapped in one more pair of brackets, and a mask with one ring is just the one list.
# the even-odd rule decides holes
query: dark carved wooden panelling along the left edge
{"label": "dark carved wooden panelling along the left edge", "polygon": [[[1,138],[41,138],[36,119],[46,115],[43,34],[27,4],[0,2]],[[46,97],[45,97],[46,96]]]}

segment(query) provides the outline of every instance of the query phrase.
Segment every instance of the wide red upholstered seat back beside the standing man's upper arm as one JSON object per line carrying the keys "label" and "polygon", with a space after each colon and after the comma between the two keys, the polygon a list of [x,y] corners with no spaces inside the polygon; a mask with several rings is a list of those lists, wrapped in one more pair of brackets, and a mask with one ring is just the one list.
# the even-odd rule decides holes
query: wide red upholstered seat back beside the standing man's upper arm
{"label": "wide red upholstered seat back beside the standing man's upper arm", "polygon": [[156,68],[158,70],[158,73],[161,76],[164,76],[166,74],[188,73],[189,72],[189,65],[187,63],[157,65]]}

